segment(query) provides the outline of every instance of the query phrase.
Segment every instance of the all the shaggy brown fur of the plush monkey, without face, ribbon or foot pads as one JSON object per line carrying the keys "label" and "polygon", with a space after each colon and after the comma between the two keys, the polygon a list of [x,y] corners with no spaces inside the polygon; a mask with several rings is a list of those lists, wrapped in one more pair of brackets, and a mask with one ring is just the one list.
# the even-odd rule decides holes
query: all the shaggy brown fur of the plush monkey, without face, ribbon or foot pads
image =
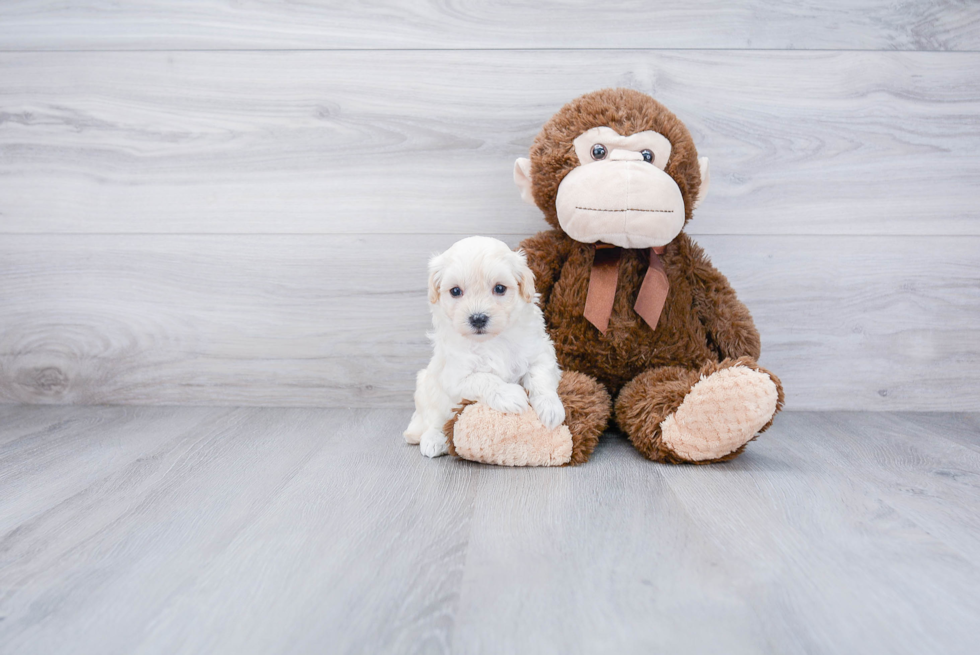
{"label": "all the shaggy brown fur of the plush monkey, without face, ribbon or foot pads", "polygon": [[[566,409],[573,438],[581,443],[576,463],[588,459],[606,425],[610,393],[618,394],[617,422],[641,453],[663,462],[693,461],[665,447],[660,426],[699,380],[736,365],[768,375],[778,394],[776,411],[782,407],[782,387],[776,376],[755,363],[760,340],[748,310],[684,232],[661,257],[670,291],[656,330],[633,310],[649,264],[648,250],[623,251],[606,334],[585,319],[593,246],[574,241],[561,230],[555,198],[562,179],[579,165],[572,142],[586,130],[602,126],[624,136],[656,130],[670,140],[665,171],[681,190],[685,223],[691,220],[701,185],[697,151],[687,128],[663,105],[637,91],[608,89],[573,100],[534,141],[533,196],[554,229],[524,240],[521,248],[534,271],[559,363],[575,389],[574,403],[566,403]],[[762,430],[771,422],[770,417]],[[699,463],[730,459],[739,452],[741,447]]]}

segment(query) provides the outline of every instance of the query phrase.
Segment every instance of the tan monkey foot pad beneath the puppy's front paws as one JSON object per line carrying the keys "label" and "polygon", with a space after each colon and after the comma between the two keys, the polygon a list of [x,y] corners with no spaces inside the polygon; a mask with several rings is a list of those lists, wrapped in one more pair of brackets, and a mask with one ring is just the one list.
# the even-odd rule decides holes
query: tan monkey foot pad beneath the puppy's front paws
{"label": "tan monkey foot pad beneath the puppy's front paws", "polygon": [[572,459],[572,434],[549,430],[533,409],[503,414],[483,403],[469,405],[453,429],[453,447],[463,459],[498,466],[562,466]]}

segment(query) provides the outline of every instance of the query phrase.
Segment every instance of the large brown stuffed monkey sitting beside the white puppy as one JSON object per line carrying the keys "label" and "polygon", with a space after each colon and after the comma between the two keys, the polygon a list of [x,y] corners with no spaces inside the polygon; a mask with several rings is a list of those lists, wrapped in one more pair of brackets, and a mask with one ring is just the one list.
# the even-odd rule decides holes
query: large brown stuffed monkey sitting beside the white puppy
{"label": "large brown stuffed monkey sitting beside the white puppy", "polygon": [[[651,460],[738,455],[772,424],[783,391],[756,363],[748,310],[683,231],[708,186],[707,159],[687,128],[643,93],[607,89],[565,105],[530,154],[514,179],[552,229],[521,248],[564,370],[559,395],[572,443],[562,459],[588,460],[613,409]],[[465,451],[461,435],[481,429],[490,434],[483,451],[498,436],[513,449],[501,420],[467,407],[447,425],[452,451]],[[496,461],[486,452],[470,458]]]}

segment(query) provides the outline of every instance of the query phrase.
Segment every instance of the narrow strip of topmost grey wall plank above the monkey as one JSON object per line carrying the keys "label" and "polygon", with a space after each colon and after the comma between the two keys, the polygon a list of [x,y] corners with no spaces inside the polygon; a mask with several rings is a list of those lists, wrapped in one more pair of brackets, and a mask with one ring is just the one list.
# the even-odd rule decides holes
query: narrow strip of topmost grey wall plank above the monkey
{"label": "narrow strip of topmost grey wall plank above the monkey", "polygon": [[980,49],[975,3],[830,0],[0,5],[6,50],[296,48]]}

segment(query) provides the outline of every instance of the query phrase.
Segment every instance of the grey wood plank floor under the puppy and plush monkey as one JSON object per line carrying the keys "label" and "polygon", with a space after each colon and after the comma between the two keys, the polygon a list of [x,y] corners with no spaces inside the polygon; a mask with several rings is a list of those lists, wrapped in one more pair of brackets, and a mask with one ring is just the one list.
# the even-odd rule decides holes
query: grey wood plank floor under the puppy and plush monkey
{"label": "grey wood plank floor under the puppy and plush monkey", "polygon": [[407,419],[0,406],[0,652],[975,652],[976,414],[549,470],[426,460]]}

